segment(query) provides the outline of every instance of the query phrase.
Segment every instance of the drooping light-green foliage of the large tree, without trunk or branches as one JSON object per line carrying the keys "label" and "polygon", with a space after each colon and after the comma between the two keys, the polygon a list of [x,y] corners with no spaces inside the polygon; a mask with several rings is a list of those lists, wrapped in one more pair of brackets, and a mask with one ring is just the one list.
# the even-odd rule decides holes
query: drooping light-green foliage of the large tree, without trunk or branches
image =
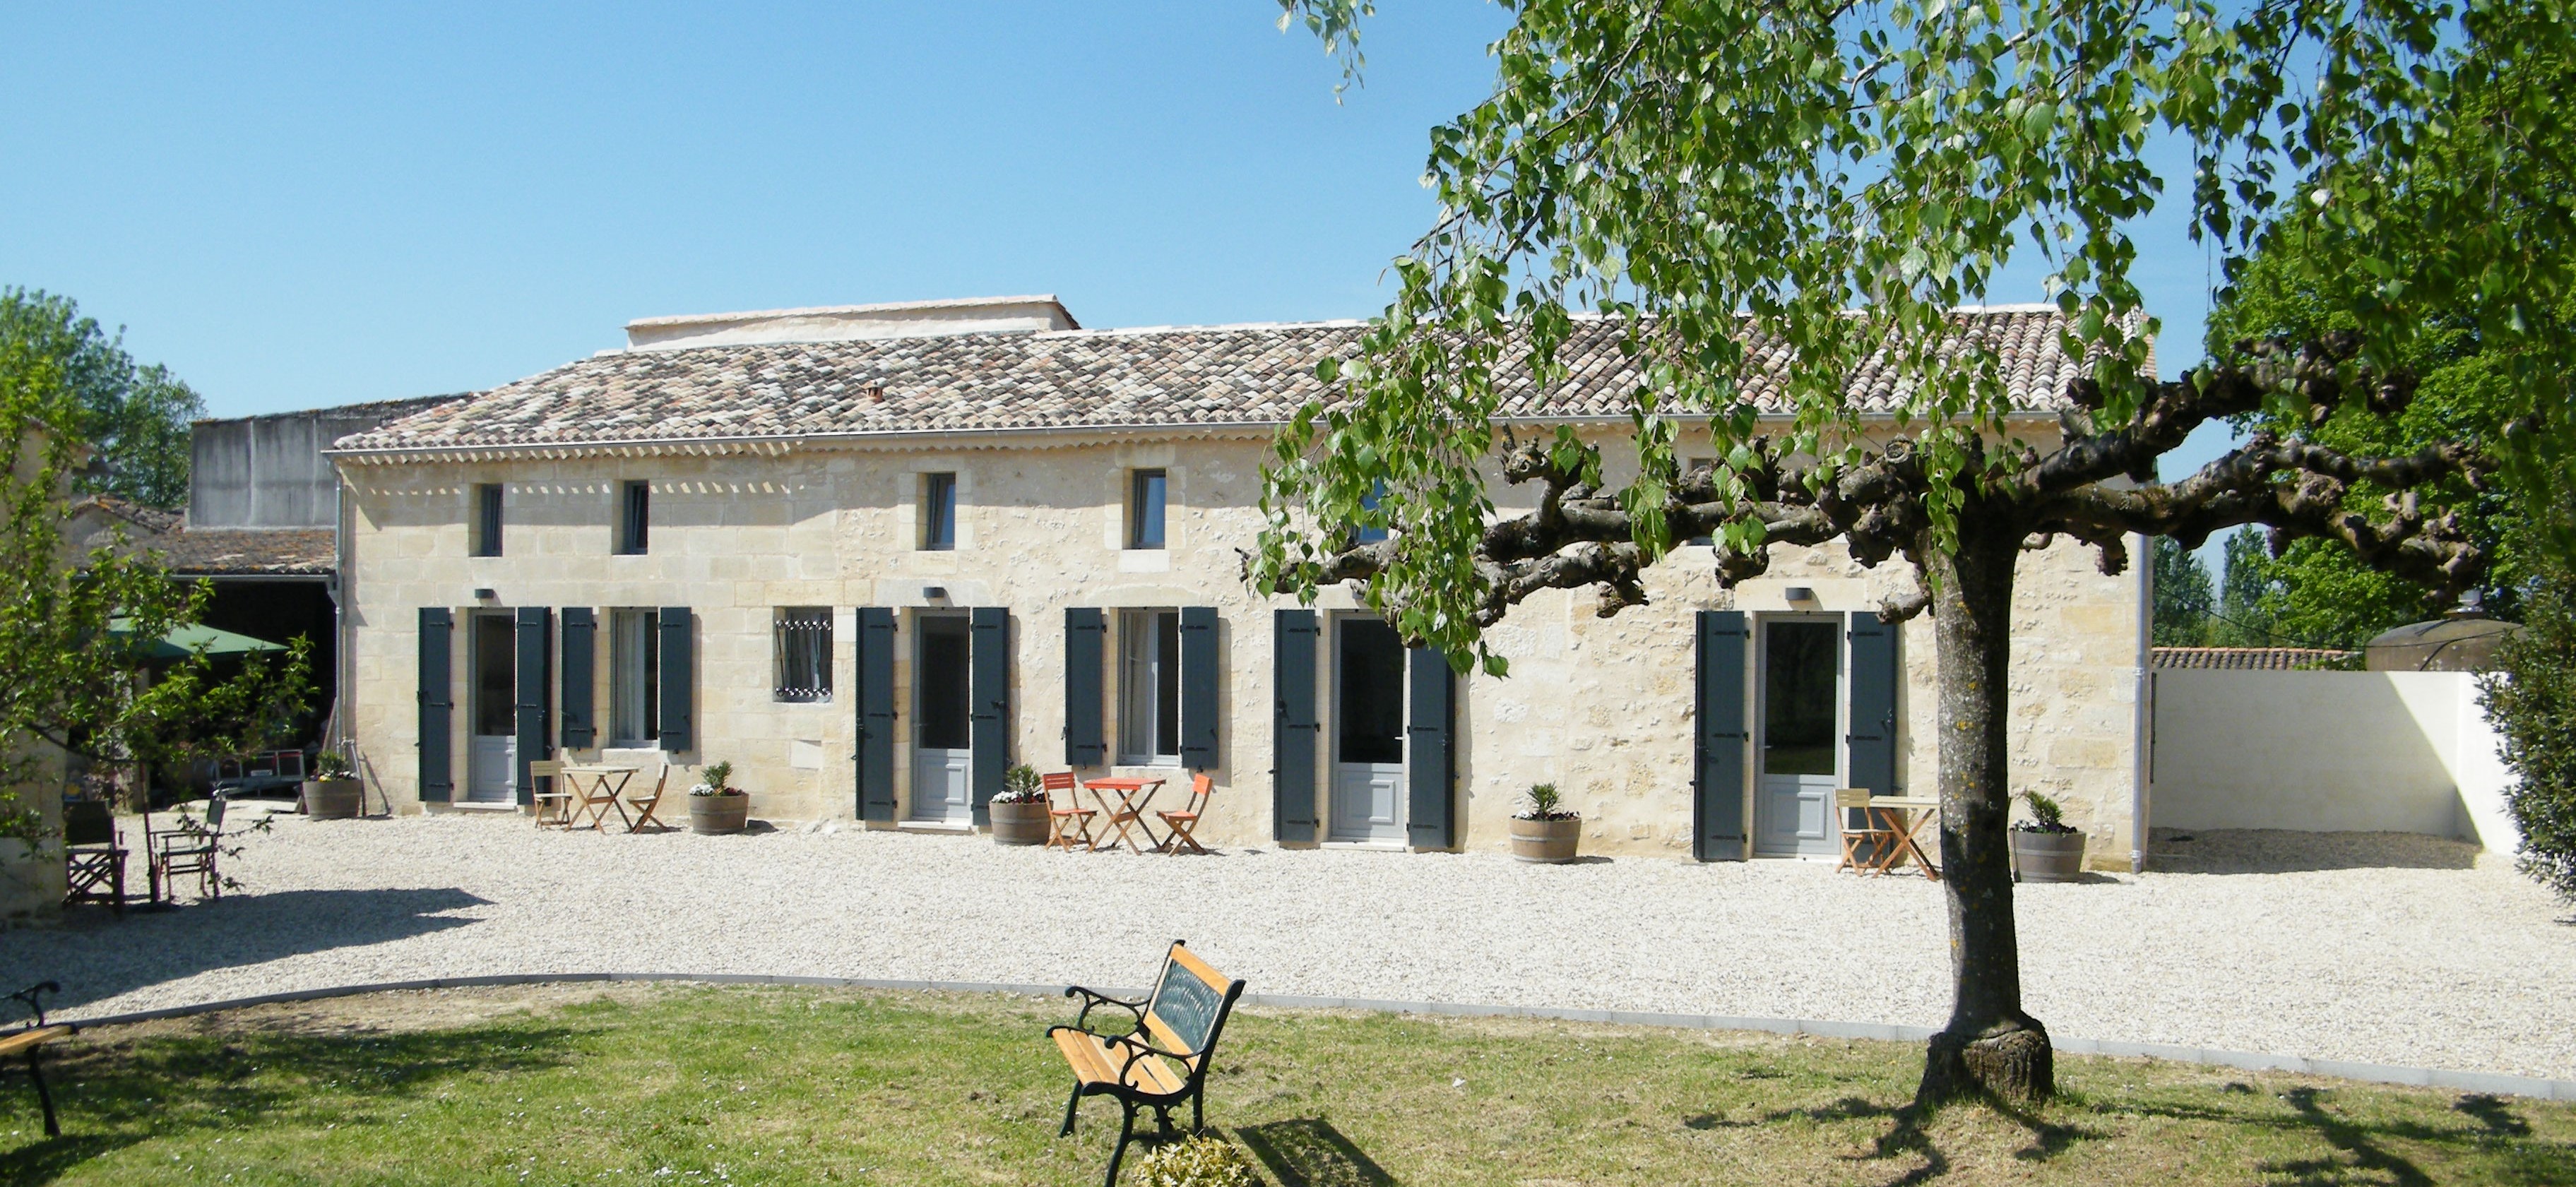
{"label": "drooping light-green foliage of the large tree, without trunk or branches", "polygon": [[[1370,3],[1280,3],[1358,77]],[[1819,461],[1795,469],[1806,484],[1860,466],[1842,381],[1873,355],[1929,474],[1914,512],[1953,538],[1965,497],[2035,463],[1994,345],[1958,335],[1953,309],[2025,299],[1996,278],[2035,260],[2030,296],[2056,301],[2061,350],[2089,360],[2081,430],[2117,433],[2159,386],[2141,257],[2205,250],[2233,276],[2293,203],[2303,268],[2375,281],[2352,340],[2318,355],[2336,384],[2380,384],[2439,309],[2512,348],[2527,415],[2509,474],[2568,481],[2576,355],[2550,317],[2576,291],[2563,116],[2512,67],[2568,57],[2571,0],[1499,3],[1515,23],[1492,46],[1492,98],[1432,129],[1435,227],[1394,263],[1358,355],[1319,366],[1334,399],[1278,440],[1260,587],[1311,597],[1352,528],[1388,528],[1368,603],[1499,675],[1481,644],[1494,574],[1473,561],[1504,445],[1497,384],[1561,379],[1582,314],[1615,317],[1643,376],[1638,476],[1597,489],[1600,456],[1569,430],[1546,469],[1615,494],[1646,564],[1674,543],[1685,435],[1713,435],[1716,474],[1692,489],[1731,505],[1790,456]],[[2159,178],[2159,139],[2187,144],[2195,175]],[[2187,203],[2195,245],[2136,239],[2159,203]],[[1749,345],[1795,358],[1765,394],[1785,420],[1744,386]],[[2264,386],[2264,417],[2306,422],[2313,389]],[[1716,525],[1734,554],[1767,530]]]}

